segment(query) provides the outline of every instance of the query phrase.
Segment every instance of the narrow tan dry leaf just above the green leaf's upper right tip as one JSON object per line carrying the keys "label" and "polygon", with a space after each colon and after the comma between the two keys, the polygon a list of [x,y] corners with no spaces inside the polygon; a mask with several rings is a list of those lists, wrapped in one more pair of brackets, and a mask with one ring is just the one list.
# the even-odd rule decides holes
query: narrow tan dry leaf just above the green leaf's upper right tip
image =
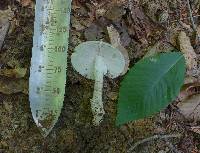
{"label": "narrow tan dry leaf just above the green leaf's upper right tip", "polygon": [[180,50],[183,53],[186,66],[188,70],[196,70],[197,69],[197,55],[194,52],[194,49],[191,45],[189,37],[186,35],[185,32],[181,31],[179,34],[179,43],[180,43]]}

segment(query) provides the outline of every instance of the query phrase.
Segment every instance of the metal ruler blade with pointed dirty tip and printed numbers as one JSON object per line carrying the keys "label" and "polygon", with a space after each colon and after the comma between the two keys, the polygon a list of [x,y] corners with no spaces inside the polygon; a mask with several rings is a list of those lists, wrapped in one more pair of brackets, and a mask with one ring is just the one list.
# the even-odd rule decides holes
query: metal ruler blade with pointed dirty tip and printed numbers
{"label": "metal ruler blade with pointed dirty tip and printed numbers", "polygon": [[36,0],[29,101],[44,136],[54,127],[64,101],[71,0]]}

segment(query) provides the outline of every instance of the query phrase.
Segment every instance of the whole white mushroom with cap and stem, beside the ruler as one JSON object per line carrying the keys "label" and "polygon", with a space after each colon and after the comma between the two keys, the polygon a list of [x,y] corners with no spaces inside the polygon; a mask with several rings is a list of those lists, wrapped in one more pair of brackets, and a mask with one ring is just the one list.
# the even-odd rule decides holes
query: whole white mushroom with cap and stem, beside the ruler
{"label": "whole white mushroom with cap and stem, beside the ruler", "polygon": [[71,57],[76,71],[88,79],[95,80],[91,109],[94,125],[99,125],[105,114],[102,101],[103,78],[119,76],[125,67],[122,53],[102,41],[88,41],[75,48]]}

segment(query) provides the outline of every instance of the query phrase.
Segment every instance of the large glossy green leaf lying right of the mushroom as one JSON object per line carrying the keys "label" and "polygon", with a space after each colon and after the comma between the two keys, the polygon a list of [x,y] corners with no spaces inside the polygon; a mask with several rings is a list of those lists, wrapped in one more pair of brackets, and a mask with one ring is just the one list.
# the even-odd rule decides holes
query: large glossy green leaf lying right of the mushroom
{"label": "large glossy green leaf lying right of the mushroom", "polygon": [[116,124],[145,118],[165,108],[184,82],[185,59],[181,53],[144,58],[121,83]]}

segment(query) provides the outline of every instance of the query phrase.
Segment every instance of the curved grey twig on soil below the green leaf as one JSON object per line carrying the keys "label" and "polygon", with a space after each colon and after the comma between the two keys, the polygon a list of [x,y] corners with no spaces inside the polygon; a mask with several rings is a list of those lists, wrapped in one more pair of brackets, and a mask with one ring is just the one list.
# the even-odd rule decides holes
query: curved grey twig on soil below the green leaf
{"label": "curved grey twig on soil below the green leaf", "polygon": [[171,134],[171,135],[154,135],[152,137],[143,139],[141,141],[136,142],[128,151],[127,153],[131,153],[133,152],[139,145],[149,142],[149,141],[153,141],[156,139],[170,139],[170,138],[180,138],[181,134]]}

